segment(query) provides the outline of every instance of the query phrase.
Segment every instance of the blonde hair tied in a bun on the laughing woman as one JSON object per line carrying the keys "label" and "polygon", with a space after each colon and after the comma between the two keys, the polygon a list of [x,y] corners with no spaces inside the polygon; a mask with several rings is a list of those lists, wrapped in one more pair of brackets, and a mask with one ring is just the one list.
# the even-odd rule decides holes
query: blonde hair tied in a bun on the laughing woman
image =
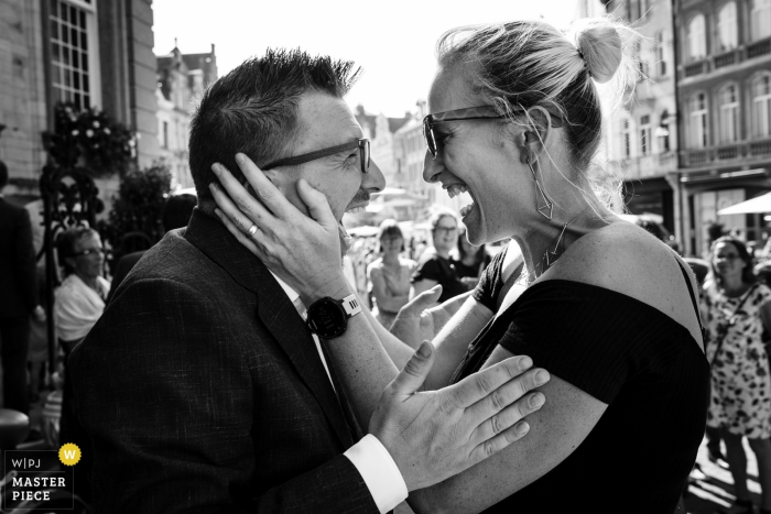
{"label": "blonde hair tied in a bun on the laughing woman", "polygon": [[605,92],[613,100],[622,97],[636,77],[636,37],[610,17],[578,20],[567,35],[544,21],[512,21],[452,29],[439,39],[436,54],[445,68],[470,64],[474,89],[512,121],[529,119],[526,110],[536,106],[556,111],[573,171],[587,185],[602,132],[595,83],[611,83]]}

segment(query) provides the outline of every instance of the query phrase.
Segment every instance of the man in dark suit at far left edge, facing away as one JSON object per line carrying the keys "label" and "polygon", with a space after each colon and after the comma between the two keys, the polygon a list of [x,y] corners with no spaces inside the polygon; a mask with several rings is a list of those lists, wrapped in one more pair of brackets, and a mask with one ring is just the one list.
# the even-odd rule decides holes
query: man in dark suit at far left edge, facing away
{"label": "man in dark suit at far left edge, facing away", "polygon": [[30,412],[26,353],[30,315],[44,318],[37,305],[37,275],[30,215],[2,196],[8,167],[0,161],[0,353],[3,407]]}

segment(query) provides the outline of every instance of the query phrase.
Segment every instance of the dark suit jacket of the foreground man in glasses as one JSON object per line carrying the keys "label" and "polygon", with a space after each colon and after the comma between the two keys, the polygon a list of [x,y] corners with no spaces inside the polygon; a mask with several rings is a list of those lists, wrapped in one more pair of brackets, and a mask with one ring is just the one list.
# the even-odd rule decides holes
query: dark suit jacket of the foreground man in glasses
{"label": "dark suit jacket of the foreground man in glasses", "polygon": [[350,407],[306,325],[197,209],[148,251],[68,362],[97,513],[378,512],[341,455]]}

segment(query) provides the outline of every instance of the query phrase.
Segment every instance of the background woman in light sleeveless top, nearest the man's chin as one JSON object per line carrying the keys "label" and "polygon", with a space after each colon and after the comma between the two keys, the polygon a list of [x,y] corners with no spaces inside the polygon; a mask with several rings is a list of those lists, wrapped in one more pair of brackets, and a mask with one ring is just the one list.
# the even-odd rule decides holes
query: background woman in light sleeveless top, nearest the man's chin
{"label": "background woman in light sleeveless top, nearest the man's chin", "polygon": [[372,314],[389,328],[399,309],[410,300],[410,277],[417,264],[399,256],[404,251],[404,236],[397,220],[387,219],[380,223],[378,241],[378,253],[382,256],[367,266],[367,278],[372,284]]}

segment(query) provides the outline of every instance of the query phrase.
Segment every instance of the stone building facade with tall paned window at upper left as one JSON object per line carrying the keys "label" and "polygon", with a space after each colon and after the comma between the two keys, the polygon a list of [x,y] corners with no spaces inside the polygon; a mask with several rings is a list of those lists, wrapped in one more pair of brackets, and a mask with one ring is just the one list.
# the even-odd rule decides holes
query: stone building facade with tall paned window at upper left
{"label": "stone building facade with tall paned window at upper left", "polygon": [[[160,156],[152,0],[0,0],[0,160],[6,193],[39,196],[42,134],[59,101],[97,107],[132,128],[140,165]],[[109,201],[117,177],[98,181]]]}

